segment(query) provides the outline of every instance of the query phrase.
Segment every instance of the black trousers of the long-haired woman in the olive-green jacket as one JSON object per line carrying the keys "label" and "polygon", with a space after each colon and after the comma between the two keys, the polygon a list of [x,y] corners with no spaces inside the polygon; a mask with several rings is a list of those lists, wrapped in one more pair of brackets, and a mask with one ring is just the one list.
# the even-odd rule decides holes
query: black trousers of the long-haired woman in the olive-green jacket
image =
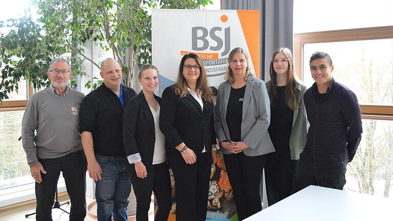
{"label": "black trousers of the long-haired woman in the olive-green jacket", "polygon": [[291,195],[297,161],[277,152],[268,153],[266,157],[266,192],[271,206]]}

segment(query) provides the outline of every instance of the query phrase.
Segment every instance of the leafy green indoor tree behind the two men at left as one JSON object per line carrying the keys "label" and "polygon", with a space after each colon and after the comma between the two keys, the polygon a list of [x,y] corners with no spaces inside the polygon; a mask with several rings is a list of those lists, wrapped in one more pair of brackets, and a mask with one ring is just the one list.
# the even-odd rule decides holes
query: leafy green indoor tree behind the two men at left
{"label": "leafy green indoor tree behind the two men at left", "polygon": [[[70,57],[76,83],[76,75],[83,76],[82,61],[87,40],[93,40],[102,50],[115,50],[125,54],[128,47],[136,54],[134,60],[124,64],[124,79],[135,76],[136,64],[151,63],[151,15],[148,8],[200,8],[212,4],[210,0],[34,0],[37,20],[31,16],[0,21],[1,27],[9,27],[9,33],[0,34],[1,70],[0,101],[8,98],[9,91],[18,89],[21,78],[29,79],[34,87],[49,84],[46,70],[49,63],[73,50]],[[29,9],[30,13],[30,9]],[[80,54],[79,54],[80,53]],[[90,57],[91,58],[91,57]],[[83,60],[82,60],[83,59]],[[99,61],[95,61],[99,63]],[[84,86],[96,89],[102,80],[93,78]],[[132,86],[131,82],[125,82]]]}

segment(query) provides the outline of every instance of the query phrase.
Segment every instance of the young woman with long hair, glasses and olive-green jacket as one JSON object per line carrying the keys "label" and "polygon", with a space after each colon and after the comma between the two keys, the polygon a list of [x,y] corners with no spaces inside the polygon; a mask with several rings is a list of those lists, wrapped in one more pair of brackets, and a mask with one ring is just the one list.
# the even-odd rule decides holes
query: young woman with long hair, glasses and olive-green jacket
{"label": "young woman with long hair, glasses and olive-green jacket", "polygon": [[305,85],[293,71],[287,48],[274,52],[266,82],[271,103],[269,135],[275,152],[265,165],[269,206],[291,195],[296,162],[307,140],[307,117],[303,102]]}

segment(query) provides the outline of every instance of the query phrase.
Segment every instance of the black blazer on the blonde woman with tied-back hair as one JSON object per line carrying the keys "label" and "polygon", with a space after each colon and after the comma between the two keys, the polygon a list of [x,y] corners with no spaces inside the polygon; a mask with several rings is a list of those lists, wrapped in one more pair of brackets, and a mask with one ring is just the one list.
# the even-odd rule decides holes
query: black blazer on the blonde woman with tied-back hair
{"label": "black blazer on the blonde woman with tied-back hair", "polygon": [[[161,98],[154,95],[157,102]],[[158,125],[157,125],[158,126]],[[141,91],[131,99],[123,114],[123,143],[126,157],[139,153],[147,173],[153,163],[153,154],[156,142],[154,118],[146,98]],[[135,173],[135,165],[126,161],[127,170]]]}

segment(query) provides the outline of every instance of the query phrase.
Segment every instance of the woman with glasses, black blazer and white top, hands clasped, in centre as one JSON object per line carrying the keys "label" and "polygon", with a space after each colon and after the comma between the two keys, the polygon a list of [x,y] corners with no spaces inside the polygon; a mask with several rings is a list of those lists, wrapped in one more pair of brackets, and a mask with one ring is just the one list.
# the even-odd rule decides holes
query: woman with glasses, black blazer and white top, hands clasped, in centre
{"label": "woman with glasses, black blazer and white top, hands clasped, in centre", "polygon": [[162,94],[160,129],[175,181],[176,220],[205,220],[215,130],[205,69],[195,54],[183,56],[176,84]]}

